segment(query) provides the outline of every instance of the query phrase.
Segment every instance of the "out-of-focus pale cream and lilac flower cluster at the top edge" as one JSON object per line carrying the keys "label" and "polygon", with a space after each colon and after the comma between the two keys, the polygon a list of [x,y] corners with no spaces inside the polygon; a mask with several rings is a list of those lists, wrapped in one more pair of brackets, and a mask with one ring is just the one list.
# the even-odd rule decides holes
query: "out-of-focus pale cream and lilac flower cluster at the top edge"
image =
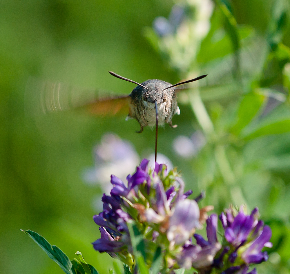
{"label": "out-of-focus pale cream and lilac flower cluster at the top edge", "polygon": [[168,19],[157,17],[153,30],[147,29],[149,41],[166,56],[171,68],[180,72],[189,70],[209,32],[213,7],[211,0],[177,1]]}

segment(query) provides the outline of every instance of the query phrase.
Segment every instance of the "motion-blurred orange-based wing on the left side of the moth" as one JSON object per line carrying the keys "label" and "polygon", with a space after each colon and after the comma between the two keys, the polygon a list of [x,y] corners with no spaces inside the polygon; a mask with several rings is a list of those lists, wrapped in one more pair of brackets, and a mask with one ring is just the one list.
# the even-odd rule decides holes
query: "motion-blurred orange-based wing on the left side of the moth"
{"label": "motion-blurred orange-based wing on the left side of the moth", "polygon": [[83,89],[30,77],[25,91],[25,112],[39,116],[51,112],[79,109],[95,115],[128,114],[128,95],[114,95],[96,89]]}

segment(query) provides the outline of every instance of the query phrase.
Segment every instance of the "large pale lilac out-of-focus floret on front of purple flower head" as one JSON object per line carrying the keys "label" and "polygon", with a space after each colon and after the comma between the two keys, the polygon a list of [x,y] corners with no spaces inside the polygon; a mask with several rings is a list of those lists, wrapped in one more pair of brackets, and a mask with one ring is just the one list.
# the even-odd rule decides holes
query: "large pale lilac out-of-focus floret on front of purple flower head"
{"label": "large pale lilac out-of-focus floret on front of purple flower head", "polygon": [[179,200],[169,219],[167,239],[172,245],[184,244],[199,227],[200,210],[195,200]]}

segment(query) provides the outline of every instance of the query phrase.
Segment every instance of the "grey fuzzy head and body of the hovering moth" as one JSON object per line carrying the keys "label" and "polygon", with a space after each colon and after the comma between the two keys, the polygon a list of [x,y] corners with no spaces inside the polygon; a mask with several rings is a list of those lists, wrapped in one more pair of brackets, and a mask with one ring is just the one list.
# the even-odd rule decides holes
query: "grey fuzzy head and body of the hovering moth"
{"label": "grey fuzzy head and body of the hovering moth", "polygon": [[179,108],[177,106],[174,87],[163,90],[166,87],[171,86],[170,83],[161,80],[147,80],[142,83],[148,89],[142,86],[137,86],[133,89],[129,95],[131,98],[129,117],[135,118],[140,126],[141,130],[145,126],[156,125],[155,103],[157,101],[158,109],[158,124],[164,125],[168,123],[172,126],[172,116],[179,114]]}

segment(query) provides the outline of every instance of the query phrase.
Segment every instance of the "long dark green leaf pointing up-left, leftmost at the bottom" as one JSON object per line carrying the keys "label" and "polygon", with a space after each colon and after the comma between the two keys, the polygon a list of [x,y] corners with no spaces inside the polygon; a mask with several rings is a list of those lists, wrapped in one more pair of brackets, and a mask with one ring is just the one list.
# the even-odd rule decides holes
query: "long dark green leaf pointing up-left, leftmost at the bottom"
{"label": "long dark green leaf pointing up-left, leftmost at the bottom", "polygon": [[57,246],[51,246],[50,243],[40,236],[38,233],[31,231],[31,230],[21,230],[26,233],[28,236],[32,238],[40,247],[41,249],[52,259],[55,261],[60,268],[67,274],[75,274],[72,271],[73,264],[70,262],[68,256],[62,252]]}

